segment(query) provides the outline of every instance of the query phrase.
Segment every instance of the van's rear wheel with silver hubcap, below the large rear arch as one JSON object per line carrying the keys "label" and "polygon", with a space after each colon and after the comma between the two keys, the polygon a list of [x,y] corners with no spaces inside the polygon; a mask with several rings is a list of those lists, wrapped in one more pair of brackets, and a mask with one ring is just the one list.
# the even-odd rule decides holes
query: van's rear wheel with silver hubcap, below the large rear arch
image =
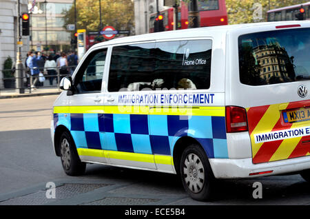
{"label": "van's rear wheel with silver hubcap, below the large rear arch", "polygon": [[187,147],[180,159],[180,176],[185,191],[194,200],[210,200],[214,176],[205,151],[198,145]]}

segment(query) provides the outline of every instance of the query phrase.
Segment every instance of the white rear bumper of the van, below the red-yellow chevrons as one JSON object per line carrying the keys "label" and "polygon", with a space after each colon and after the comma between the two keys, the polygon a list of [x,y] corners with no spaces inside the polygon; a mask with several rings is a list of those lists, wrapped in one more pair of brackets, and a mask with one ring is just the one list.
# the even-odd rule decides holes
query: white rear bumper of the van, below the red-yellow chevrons
{"label": "white rear bumper of the van, below the red-yellow chevrons", "polygon": [[[215,178],[253,178],[287,174],[304,169],[310,169],[310,156],[253,164],[252,158],[244,159],[209,159]],[[251,173],[271,171],[269,174],[249,176]]]}

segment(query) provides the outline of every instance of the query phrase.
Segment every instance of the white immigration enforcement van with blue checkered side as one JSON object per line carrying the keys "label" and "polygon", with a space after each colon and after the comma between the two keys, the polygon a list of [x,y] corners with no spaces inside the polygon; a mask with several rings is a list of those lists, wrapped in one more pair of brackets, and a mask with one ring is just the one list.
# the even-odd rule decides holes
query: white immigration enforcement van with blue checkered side
{"label": "white immigration enforcement van with blue checkered side", "polygon": [[310,180],[310,22],[195,28],[98,43],[61,80],[51,134],[68,175],[86,163],[216,179]]}

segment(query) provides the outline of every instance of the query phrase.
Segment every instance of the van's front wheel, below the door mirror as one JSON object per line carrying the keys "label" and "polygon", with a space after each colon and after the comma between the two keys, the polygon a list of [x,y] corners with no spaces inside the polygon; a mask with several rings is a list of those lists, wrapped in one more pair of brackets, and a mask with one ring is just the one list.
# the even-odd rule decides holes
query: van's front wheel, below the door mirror
{"label": "van's front wheel, below the door mirror", "polygon": [[61,164],[65,174],[79,176],[85,173],[86,163],[81,162],[74,141],[68,132],[63,132],[59,141]]}

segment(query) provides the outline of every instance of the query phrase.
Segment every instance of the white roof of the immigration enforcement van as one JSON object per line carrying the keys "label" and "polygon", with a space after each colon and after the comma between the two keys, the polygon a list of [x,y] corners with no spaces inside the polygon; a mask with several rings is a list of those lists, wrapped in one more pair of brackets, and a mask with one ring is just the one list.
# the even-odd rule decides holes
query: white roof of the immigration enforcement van
{"label": "white roof of the immigration enforcement van", "polygon": [[[165,32],[156,32],[150,34],[141,34],[136,36],[125,36],[118,39],[112,39],[110,41],[97,43],[94,45],[94,48],[101,47],[104,45],[112,45],[112,44],[121,44],[121,43],[134,43],[139,41],[154,41],[158,39],[174,39],[174,38],[182,38],[182,37],[201,37],[201,36],[214,36],[216,34],[225,34],[227,32],[233,32],[236,30],[240,30],[240,28],[248,28],[249,31],[251,29],[256,30],[257,28],[264,27],[265,28],[273,28],[278,25],[293,25],[308,23],[310,21],[274,21],[274,22],[261,22],[261,23],[242,23],[242,24],[234,24],[234,25],[220,25],[220,26],[212,26],[205,28],[192,28],[192,29],[184,29],[184,30],[172,30]],[[209,33],[206,35],[206,33]]]}

